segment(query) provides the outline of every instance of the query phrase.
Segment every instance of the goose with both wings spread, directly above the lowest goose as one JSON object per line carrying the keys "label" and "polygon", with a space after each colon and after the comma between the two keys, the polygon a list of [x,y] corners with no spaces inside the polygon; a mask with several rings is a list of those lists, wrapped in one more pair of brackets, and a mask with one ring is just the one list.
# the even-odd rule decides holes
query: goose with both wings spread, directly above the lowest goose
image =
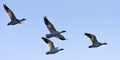
{"label": "goose with both wings spread, directly above the lowest goose", "polygon": [[46,34],[47,38],[56,37],[59,38],[60,40],[66,40],[66,38],[63,35],[61,35],[61,33],[66,32],[65,30],[61,32],[57,31],[53,26],[53,24],[47,19],[46,16],[44,16],[44,23],[46,24],[48,30],[50,31],[50,34]]}

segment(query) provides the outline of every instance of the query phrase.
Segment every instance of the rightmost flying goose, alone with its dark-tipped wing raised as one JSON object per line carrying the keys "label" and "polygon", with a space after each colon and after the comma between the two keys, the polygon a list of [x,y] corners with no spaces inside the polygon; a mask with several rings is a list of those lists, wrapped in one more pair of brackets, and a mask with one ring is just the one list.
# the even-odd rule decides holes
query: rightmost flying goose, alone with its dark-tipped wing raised
{"label": "rightmost flying goose, alone with its dark-tipped wing raised", "polygon": [[92,41],[92,45],[89,46],[89,48],[96,48],[96,47],[99,47],[99,46],[101,46],[101,45],[107,45],[107,43],[98,42],[96,36],[93,35],[93,34],[85,33],[85,35],[86,35],[87,37],[89,37],[90,40]]}

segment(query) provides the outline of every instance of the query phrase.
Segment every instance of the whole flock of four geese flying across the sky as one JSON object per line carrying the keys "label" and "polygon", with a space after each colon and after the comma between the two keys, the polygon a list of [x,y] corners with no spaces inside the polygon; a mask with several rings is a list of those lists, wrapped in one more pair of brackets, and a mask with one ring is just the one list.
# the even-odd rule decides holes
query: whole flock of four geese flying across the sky
{"label": "whole flock of four geese flying across the sky", "polygon": [[[6,4],[3,4],[3,7],[5,9],[5,11],[8,13],[8,16],[10,17],[11,21],[7,24],[7,25],[16,25],[16,24],[21,24],[22,21],[25,21],[26,19],[17,19],[16,16],[14,15],[14,13],[8,8],[8,6]],[[49,47],[49,51],[46,52],[47,55],[49,54],[55,54],[59,51],[64,50],[63,48],[59,48],[59,47],[55,47],[54,43],[50,40],[50,38],[52,37],[56,37],[60,40],[67,40],[63,35],[61,35],[61,33],[65,33],[66,31],[57,31],[54,27],[54,25],[47,19],[46,16],[43,17],[44,19],[44,23],[47,26],[48,30],[50,31],[49,34],[46,34],[45,37],[41,37],[41,39],[48,44]],[[87,37],[90,38],[92,45],[89,46],[89,48],[96,48],[99,47],[101,45],[107,45],[107,43],[101,43],[97,40],[96,36],[90,33],[84,33],[84,35],[86,35]]]}

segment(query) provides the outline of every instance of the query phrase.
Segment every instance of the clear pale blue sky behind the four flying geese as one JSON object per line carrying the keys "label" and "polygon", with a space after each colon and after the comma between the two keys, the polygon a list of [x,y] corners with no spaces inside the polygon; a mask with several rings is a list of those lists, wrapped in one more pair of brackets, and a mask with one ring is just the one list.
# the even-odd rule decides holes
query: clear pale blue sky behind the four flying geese
{"label": "clear pale blue sky behind the four flying geese", "polygon": [[[3,9],[6,4],[23,24],[7,26],[10,21]],[[51,38],[55,46],[64,48],[46,55],[47,45],[41,39],[47,30],[43,17],[55,25],[68,39]],[[108,45],[90,49],[85,32],[96,35]],[[1,0],[0,60],[119,60],[120,1],[119,0]]]}

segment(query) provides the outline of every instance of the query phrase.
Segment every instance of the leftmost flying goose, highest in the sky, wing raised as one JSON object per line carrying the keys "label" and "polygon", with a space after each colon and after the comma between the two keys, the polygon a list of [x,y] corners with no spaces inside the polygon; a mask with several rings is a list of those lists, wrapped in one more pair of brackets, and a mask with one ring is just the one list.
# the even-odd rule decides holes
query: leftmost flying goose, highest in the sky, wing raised
{"label": "leftmost flying goose, highest in the sky, wing raised", "polygon": [[9,15],[9,17],[10,17],[10,19],[11,19],[11,21],[7,24],[7,25],[16,25],[16,24],[22,24],[22,21],[24,21],[24,20],[26,20],[26,19],[21,19],[21,20],[19,20],[19,19],[17,19],[16,17],[15,17],[15,15],[14,15],[14,13],[7,7],[7,5],[6,4],[3,4],[3,7],[4,7],[4,9],[5,9],[5,11],[8,13],[8,15]]}

